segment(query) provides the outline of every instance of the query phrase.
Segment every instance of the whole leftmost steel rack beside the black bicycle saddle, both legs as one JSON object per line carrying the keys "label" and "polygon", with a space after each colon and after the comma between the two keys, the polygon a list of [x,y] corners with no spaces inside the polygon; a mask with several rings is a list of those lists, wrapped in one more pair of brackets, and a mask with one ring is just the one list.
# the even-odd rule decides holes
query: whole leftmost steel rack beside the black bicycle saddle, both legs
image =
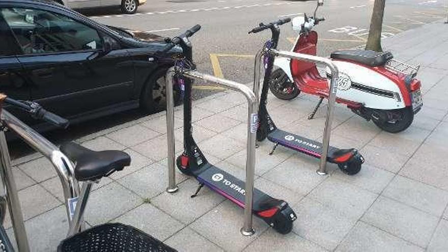
{"label": "whole leftmost steel rack beside the black bicycle saddle, both legs", "polygon": [[[5,136],[6,128],[19,135],[27,145],[40,152],[53,164],[64,190],[65,205],[70,227],[73,225],[73,215],[80,189],[79,184],[74,177],[73,164],[59,150],[59,148],[42,137],[39,133],[26,126],[7,110],[3,109],[0,120],[0,172],[5,186],[6,200],[18,249],[19,251],[29,251],[30,248],[18,200],[17,188],[12,175],[11,157],[9,155]],[[82,220],[79,221],[83,223]]]}

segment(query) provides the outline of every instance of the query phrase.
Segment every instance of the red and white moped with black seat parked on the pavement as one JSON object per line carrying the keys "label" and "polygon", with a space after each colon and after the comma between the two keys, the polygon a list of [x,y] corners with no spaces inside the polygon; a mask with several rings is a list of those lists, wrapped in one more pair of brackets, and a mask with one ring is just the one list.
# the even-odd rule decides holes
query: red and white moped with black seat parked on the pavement
{"label": "red and white moped with black seat parked on the pavement", "polygon": [[[319,0],[316,11],[323,1]],[[313,27],[324,18],[296,17],[293,30],[299,31],[294,52],[316,55],[318,35]],[[372,120],[379,128],[396,133],[407,129],[423,106],[421,82],[415,78],[419,66],[410,66],[393,59],[390,52],[360,49],[331,53],[338,66],[337,102],[347,105],[355,114]],[[322,77],[310,62],[276,58],[269,83],[271,92],[279,99],[291,100],[300,92],[317,95],[320,100],[309,115],[312,119],[322,100],[328,97],[330,71]]]}

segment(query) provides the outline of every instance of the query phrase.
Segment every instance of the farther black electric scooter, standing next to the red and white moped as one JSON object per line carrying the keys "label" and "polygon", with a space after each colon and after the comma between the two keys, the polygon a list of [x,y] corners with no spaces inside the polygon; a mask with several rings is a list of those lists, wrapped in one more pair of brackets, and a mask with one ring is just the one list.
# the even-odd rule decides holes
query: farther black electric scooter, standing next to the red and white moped
{"label": "farther black electric scooter, standing next to the red and white moped", "polygon": [[[288,22],[289,21],[290,19]],[[284,24],[285,22],[286,20],[278,20],[277,22],[272,22],[269,24],[261,23],[259,27],[256,27],[250,33],[259,33],[267,29],[271,30],[272,38],[264,45],[266,51],[268,52],[269,49],[277,48],[278,39],[280,36],[279,25]],[[266,55],[264,55],[263,62],[265,66],[265,76],[263,79],[263,88],[261,91],[258,110],[259,128],[257,131],[257,141],[263,141],[267,137],[269,141],[274,143],[274,147],[269,153],[270,155],[275,151],[278,145],[281,145],[315,158],[321,158],[322,143],[278,129],[275,126],[266,108],[269,80],[274,66],[274,57],[269,55],[269,53],[266,53]],[[258,69],[255,69],[255,71],[258,71]],[[356,149],[339,149],[329,146],[327,161],[338,164],[342,172],[348,175],[354,175],[361,170],[361,165],[364,162],[364,158]]]}

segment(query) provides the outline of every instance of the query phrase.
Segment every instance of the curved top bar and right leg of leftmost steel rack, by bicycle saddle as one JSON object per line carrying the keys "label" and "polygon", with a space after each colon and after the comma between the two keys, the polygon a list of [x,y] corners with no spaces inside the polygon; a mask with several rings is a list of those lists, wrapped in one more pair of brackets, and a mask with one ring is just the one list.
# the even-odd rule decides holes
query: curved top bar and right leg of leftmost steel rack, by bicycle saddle
{"label": "curved top bar and right leg of leftmost steel rack, by bicycle saddle", "polygon": [[72,162],[57,146],[37,133],[34,129],[21,122],[5,109],[2,111],[1,121],[10,130],[19,135],[26,144],[42,153],[42,155],[53,164],[64,190],[67,216],[71,226],[75,210],[74,206],[76,205],[80,192],[78,181],[74,177],[74,167]]}

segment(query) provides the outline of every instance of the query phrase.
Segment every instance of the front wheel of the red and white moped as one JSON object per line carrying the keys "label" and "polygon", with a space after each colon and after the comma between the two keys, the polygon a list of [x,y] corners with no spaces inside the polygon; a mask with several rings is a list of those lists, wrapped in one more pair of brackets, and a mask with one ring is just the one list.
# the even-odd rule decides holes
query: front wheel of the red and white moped
{"label": "front wheel of the red and white moped", "polygon": [[282,100],[292,100],[300,94],[300,89],[280,68],[272,72],[269,79],[269,89],[275,97]]}

